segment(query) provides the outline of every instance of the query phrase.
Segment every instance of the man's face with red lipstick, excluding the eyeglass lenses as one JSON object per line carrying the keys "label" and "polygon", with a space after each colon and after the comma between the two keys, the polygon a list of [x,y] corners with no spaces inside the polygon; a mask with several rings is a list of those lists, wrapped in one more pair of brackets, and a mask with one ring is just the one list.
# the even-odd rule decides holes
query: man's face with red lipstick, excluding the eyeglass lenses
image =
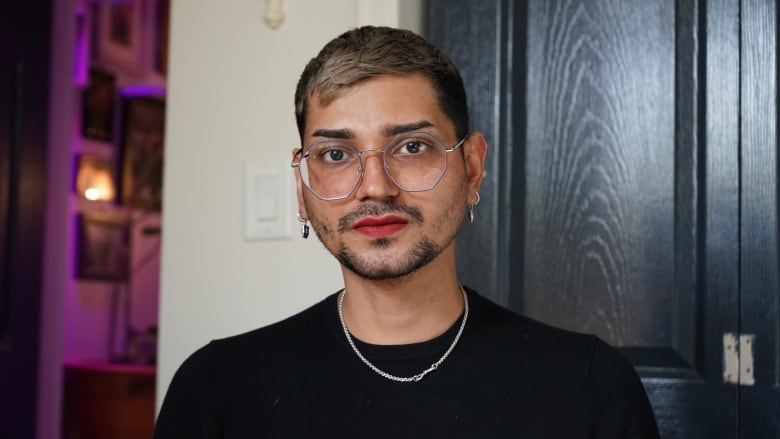
{"label": "man's face with red lipstick, excluding the eyeglass lenses", "polygon": [[[452,122],[422,75],[380,76],[323,104],[314,96],[304,144],[339,139],[358,151],[386,146],[399,130],[423,131],[455,145]],[[442,254],[454,264],[455,234],[479,189],[484,140],[477,134],[448,153],[447,170],[426,192],[404,192],[388,178],[380,153],[363,155],[363,178],[346,199],[323,201],[298,182],[299,209],[320,241],[355,274],[375,280],[415,272]],[[476,146],[475,146],[476,145]]]}

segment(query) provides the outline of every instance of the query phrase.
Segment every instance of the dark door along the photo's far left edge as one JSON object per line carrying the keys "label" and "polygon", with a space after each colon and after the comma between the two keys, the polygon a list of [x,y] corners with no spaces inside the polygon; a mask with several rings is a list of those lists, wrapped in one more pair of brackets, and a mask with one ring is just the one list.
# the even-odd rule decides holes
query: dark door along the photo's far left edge
{"label": "dark door along the photo's far left edge", "polygon": [[0,438],[35,437],[50,0],[0,0]]}

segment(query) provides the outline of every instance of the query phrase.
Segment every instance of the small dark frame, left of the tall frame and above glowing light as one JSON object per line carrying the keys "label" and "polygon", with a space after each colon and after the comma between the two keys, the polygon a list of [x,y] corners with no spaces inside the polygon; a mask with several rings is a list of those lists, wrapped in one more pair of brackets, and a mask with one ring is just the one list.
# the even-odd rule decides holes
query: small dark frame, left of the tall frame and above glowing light
{"label": "small dark frame, left of the tall frame and above glowing light", "polygon": [[89,71],[89,82],[82,95],[82,135],[110,142],[113,137],[116,78],[100,70]]}

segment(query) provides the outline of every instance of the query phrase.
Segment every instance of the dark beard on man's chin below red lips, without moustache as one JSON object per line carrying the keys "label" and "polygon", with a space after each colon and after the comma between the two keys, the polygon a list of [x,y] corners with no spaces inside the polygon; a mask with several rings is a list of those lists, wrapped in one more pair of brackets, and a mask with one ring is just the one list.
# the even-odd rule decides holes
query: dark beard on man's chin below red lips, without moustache
{"label": "dark beard on man's chin below red lips, without moustache", "polygon": [[[378,239],[374,241],[374,246],[384,248],[390,244],[387,239]],[[336,259],[341,264],[358,276],[369,280],[389,280],[397,279],[421,269],[426,264],[434,260],[441,254],[443,248],[437,246],[428,238],[423,238],[414,248],[401,256],[401,260],[396,264],[390,261],[381,263],[371,263],[346,248],[342,248],[338,253],[334,253]]]}

